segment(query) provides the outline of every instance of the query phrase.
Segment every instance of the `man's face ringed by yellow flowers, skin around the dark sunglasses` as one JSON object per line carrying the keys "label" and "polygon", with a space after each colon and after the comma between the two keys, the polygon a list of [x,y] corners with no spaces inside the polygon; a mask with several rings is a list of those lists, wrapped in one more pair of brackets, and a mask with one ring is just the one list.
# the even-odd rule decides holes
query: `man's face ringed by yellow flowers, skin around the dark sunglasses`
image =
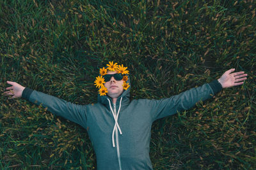
{"label": "man's face ringed by yellow flowers, skin around the dark sunglasses", "polygon": [[[116,71],[108,71],[107,74],[115,74]],[[115,78],[112,76],[109,81],[107,81],[104,85],[108,89],[108,96],[111,98],[117,98],[122,94],[124,91],[123,87],[124,80],[115,80]]]}

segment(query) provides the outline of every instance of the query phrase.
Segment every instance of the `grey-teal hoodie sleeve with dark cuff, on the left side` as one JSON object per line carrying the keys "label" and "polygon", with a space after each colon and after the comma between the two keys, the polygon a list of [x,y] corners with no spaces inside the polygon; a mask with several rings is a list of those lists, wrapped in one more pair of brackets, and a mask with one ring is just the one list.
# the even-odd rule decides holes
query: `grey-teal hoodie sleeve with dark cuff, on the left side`
{"label": "grey-teal hoodie sleeve with dark cuff, on the left side", "polygon": [[28,87],[23,90],[22,97],[38,106],[42,104],[44,108],[47,108],[54,115],[67,118],[86,129],[86,105],[73,104]]}

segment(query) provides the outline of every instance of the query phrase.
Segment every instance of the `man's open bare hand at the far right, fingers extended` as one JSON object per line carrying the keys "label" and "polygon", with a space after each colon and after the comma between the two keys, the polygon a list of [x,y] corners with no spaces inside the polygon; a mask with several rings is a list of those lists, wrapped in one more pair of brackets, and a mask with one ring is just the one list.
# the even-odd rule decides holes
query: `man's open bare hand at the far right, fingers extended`
{"label": "man's open bare hand at the far right, fingers extended", "polygon": [[233,87],[236,85],[243,85],[244,80],[246,80],[247,74],[244,74],[244,71],[232,73],[235,69],[229,69],[218,81],[221,83],[222,88]]}

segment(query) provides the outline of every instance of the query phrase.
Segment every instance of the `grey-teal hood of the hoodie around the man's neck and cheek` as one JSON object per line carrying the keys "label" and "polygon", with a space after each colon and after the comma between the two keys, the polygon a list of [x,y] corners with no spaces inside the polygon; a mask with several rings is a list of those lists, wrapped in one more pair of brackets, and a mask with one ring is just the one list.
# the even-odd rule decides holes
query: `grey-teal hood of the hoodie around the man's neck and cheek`
{"label": "grey-teal hood of the hoodie around the man's neck and cheek", "polygon": [[[127,83],[129,83],[130,87],[127,90],[124,90],[124,92],[122,92],[122,94],[116,100],[116,107],[119,107],[120,99],[122,97],[122,108],[123,109],[125,108],[125,106],[127,106],[130,103],[131,79],[130,79],[129,75],[127,75],[127,76],[128,76]],[[98,94],[98,103],[101,103],[104,106],[106,106],[106,108],[110,109],[108,99],[110,99],[111,105],[113,106],[111,97],[109,97],[108,95],[100,96],[100,94]]]}

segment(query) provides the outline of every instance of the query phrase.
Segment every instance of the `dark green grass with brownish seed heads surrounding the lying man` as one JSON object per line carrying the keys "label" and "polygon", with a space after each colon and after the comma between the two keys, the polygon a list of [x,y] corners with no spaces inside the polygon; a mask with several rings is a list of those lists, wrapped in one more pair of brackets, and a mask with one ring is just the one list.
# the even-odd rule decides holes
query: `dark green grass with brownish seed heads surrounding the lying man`
{"label": "dark green grass with brownish seed heads surrounding the lying man", "polygon": [[[7,80],[77,104],[110,60],[132,99],[161,99],[219,78],[246,83],[154,122],[154,169],[256,169],[255,1],[0,0],[0,89]],[[0,96],[0,169],[95,169],[86,131],[24,99]]]}

